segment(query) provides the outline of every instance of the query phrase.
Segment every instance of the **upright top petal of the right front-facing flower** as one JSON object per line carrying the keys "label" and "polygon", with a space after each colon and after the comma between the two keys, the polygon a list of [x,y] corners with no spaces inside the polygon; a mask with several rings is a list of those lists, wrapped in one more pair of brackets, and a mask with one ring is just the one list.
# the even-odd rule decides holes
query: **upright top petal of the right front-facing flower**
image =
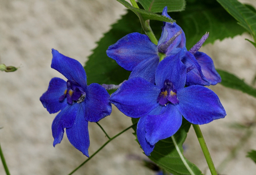
{"label": "upright top petal of the right front-facing flower", "polygon": [[184,50],[178,54],[164,58],[156,69],[156,85],[160,88],[164,86],[166,79],[170,80],[175,89],[183,88],[186,82],[186,67],[180,61]]}

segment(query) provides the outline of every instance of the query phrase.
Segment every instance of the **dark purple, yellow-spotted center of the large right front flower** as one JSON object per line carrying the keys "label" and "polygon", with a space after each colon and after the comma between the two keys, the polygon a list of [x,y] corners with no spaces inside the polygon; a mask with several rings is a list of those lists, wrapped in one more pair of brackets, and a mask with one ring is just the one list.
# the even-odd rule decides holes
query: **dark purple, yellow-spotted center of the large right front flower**
{"label": "dark purple, yellow-spotted center of the large right front flower", "polygon": [[167,79],[164,81],[164,87],[158,95],[157,102],[161,105],[166,105],[168,102],[171,102],[172,104],[179,102],[177,98],[177,90],[170,80]]}

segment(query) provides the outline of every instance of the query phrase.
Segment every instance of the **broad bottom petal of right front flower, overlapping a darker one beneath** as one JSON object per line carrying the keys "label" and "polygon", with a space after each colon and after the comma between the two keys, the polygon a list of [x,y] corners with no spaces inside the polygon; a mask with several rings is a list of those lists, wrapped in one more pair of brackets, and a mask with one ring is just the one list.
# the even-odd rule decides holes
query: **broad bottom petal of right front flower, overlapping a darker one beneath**
{"label": "broad bottom petal of right front flower, overlapping a darker one beneath", "polygon": [[156,144],[159,140],[166,139],[175,134],[182,123],[182,114],[172,104],[162,108],[160,115],[147,115],[145,121],[146,140]]}

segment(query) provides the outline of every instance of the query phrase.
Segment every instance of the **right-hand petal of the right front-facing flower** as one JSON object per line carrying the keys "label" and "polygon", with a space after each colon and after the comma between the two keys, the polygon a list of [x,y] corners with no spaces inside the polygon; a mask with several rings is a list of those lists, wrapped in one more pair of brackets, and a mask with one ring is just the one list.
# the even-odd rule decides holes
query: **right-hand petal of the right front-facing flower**
{"label": "right-hand petal of the right front-facing flower", "polygon": [[177,98],[180,100],[177,108],[192,124],[206,124],[226,116],[218,96],[206,87],[192,85],[179,89]]}

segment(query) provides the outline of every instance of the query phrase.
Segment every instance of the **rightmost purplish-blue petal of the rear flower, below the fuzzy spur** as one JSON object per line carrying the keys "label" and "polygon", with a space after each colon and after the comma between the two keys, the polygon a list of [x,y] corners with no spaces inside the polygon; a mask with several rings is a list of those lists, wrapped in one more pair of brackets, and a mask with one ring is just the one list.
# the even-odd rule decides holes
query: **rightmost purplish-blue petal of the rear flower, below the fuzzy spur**
{"label": "rightmost purplish-blue petal of the rear flower, below the fuzzy spur", "polygon": [[196,57],[196,60],[201,66],[204,77],[206,77],[210,84],[216,85],[217,83],[220,83],[221,77],[216,71],[211,57],[209,57],[208,55],[206,55],[206,53],[203,52],[196,52],[194,56]]}

